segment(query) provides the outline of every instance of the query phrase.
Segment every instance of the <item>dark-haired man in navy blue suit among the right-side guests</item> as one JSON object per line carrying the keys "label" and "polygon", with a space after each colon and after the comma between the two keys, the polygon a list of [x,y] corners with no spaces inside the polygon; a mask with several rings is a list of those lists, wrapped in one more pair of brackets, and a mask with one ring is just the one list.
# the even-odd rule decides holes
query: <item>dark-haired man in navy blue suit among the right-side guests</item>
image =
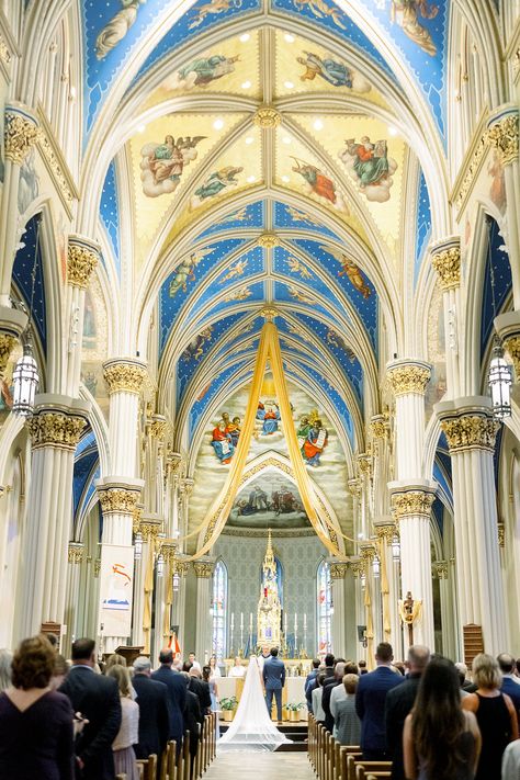
{"label": "dark-haired man in navy blue suit among the right-side guests", "polygon": [[355,712],[361,721],[361,749],[365,761],[388,760],[385,737],[385,700],[404,677],[391,668],[392,645],[381,642],[375,651],[377,668],[360,677],[355,692]]}

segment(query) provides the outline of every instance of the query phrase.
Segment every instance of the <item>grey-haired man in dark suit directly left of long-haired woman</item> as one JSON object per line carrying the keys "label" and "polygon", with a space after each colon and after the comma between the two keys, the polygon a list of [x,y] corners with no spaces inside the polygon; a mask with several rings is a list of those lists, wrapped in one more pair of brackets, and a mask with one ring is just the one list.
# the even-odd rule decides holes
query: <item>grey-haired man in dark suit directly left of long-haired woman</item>
{"label": "grey-haired man in dark suit directly left of long-haired woman", "polygon": [[386,694],[386,747],[392,759],[392,780],[405,780],[406,777],[403,764],[403,730],[406,716],[414,706],[420,678],[429,662],[430,651],[428,647],[412,645],[408,651],[410,674],[400,686],[393,688]]}

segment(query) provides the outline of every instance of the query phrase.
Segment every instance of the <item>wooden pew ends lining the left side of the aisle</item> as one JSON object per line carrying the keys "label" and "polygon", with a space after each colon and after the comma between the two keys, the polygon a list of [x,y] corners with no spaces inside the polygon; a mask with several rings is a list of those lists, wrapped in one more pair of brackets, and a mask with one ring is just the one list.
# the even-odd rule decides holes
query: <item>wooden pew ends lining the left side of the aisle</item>
{"label": "wooden pew ends lining the left side of the aisle", "polygon": [[[154,754],[138,759],[142,780],[200,780],[216,756],[216,713],[204,717],[196,755],[190,754],[190,732],[185,732],[182,749],[177,755],[177,744],[171,739],[162,754],[160,773],[157,773],[158,758]],[[117,775],[116,780],[126,780],[126,775]]]}

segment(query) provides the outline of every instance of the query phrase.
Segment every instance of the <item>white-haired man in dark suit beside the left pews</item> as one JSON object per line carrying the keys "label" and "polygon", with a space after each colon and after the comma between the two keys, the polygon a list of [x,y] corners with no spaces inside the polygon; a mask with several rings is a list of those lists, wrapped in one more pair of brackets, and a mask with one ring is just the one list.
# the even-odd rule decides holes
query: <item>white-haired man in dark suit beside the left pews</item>
{"label": "white-haired man in dark suit beside the left pews", "polygon": [[139,742],[134,745],[137,758],[148,758],[152,753],[159,758],[168,742],[168,688],[151,680],[150,659],[144,655],[134,660],[132,686],[139,705]]}

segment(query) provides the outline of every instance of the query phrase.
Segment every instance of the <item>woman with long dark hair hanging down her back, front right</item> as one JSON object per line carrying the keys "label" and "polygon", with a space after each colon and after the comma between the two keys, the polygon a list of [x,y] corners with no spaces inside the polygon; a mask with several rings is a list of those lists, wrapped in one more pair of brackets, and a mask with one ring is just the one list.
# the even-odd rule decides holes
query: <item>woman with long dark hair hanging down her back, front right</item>
{"label": "woman with long dark hair hanging down her back, front right", "polygon": [[426,667],[403,734],[407,780],[473,780],[481,751],[476,719],[461,708],[459,675],[448,658]]}

